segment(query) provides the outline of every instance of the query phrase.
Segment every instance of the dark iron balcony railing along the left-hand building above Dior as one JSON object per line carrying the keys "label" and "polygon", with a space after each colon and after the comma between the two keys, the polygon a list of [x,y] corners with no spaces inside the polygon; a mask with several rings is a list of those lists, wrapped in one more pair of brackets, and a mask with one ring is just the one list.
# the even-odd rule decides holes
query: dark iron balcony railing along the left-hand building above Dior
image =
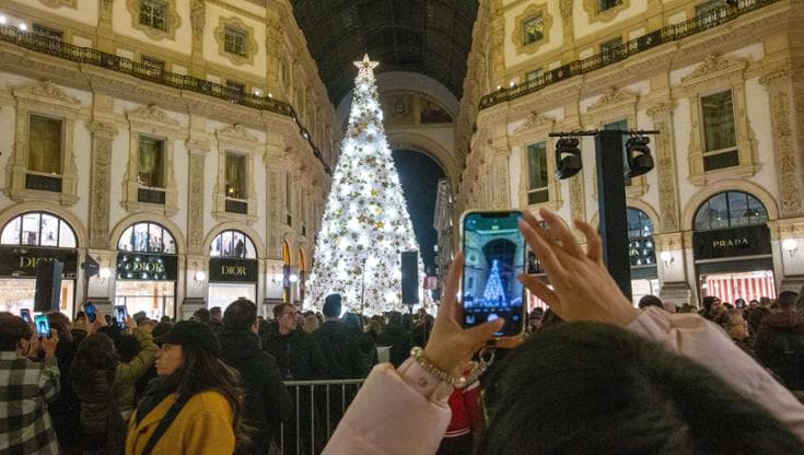
{"label": "dark iron balcony railing along the left-hand building above Dior", "polygon": [[293,106],[289,103],[273,100],[269,96],[257,96],[250,93],[245,93],[236,89],[230,89],[225,85],[194,78],[191,75],[165,71],[125,57],[103,52],[89,47],[75,46],[73,44],[38,35],[33,32],[23,32],[12,25],[0,25],[0,40],[78,63],[106,68],[143,81],[214,96],[241,106],[291,117],[299,126],[299,133],[302,135],[302,137],[305,138],[313,148],[313,154],[315,158],[322,163],[327,174],[331,175],[331,170],[324,161],[321,150],[318,150],[318,148],[313,143],[308,131],[299,124],[296,113],[293,109]]}

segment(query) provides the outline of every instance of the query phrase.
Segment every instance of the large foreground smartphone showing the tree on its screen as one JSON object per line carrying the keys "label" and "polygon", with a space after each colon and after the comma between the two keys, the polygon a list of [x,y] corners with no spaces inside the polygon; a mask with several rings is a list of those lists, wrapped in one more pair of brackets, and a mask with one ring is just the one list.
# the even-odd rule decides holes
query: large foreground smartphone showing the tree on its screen
{"label": "large foreground smartphone showing the tree on its screen", "polygon": [[518,210],[468,211],[461,218],[464,327],[502,317],[505,325],[496,336],[512,337],[525,329],[523,285],[516,279],[526,264],[521,218]]}

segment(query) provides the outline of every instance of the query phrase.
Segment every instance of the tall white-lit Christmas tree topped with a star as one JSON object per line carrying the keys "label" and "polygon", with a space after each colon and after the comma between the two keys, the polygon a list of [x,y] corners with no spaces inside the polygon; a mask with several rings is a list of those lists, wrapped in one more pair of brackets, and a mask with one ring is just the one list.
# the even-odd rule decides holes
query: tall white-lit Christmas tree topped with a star
{"label": "tall white-lit Christmas tree topped with a star", "polygon": [[[348,311],[401,310],[399,254],[419,249],[385,139],[373,69],[356,61],[354,98],[306,282],[305,308],[339,293]],[[422,273],[419,260],[419,276]]]}

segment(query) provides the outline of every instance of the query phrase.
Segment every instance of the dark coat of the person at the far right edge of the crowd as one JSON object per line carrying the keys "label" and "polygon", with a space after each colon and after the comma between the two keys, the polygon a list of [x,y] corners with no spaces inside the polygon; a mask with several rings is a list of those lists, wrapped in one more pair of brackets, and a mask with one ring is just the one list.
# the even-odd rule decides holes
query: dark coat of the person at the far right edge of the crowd
{"label": "dark coat of the person at the far right edge of the crowd", "polygon": [[791,390],[804,389],[804,317],[796,312],[766,316],[757,331],[756,351]]}

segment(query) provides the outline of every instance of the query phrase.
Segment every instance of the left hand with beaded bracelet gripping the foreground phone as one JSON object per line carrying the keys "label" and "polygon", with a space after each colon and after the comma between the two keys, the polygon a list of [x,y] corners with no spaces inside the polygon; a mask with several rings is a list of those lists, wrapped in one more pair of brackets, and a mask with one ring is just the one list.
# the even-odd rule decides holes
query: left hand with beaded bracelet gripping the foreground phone
{"label": "left hand with beaded bracelet gripping the foreground phone", "polygon": [[462,327],[463,308],[457,302],[457,292],[463,269],[464,256],[458,253],[450,266],[439,317],[423,352],[439,370],[456,376],[463,375],[463,366],[505,323],[500,318],[473,328]]}

